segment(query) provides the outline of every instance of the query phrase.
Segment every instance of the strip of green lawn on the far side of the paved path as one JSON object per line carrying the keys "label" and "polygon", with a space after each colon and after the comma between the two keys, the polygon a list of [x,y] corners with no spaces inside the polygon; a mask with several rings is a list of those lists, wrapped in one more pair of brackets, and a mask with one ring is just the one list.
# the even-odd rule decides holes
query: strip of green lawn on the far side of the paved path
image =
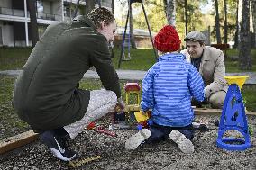
{"label": "strip of green lawn on the far side of the paved path", "polygon": [[[1,48],[0,49],[0,70],[22,69],[32,48]],[[120,49],[114,49],[114,67],[118,68]],[[127,49],[125,49],[127,55]],[[242,72],[238,69],[238,61],[233,61],[232,56],[238,56],[236,49],[227,50],[228,58],[225,58],[226,72]],[[152,49],[131,49],[131,60],[122,61],[121,69],[148,70],[156,61]],[[256,72],[256,49],[251,49],[252,70]]]}

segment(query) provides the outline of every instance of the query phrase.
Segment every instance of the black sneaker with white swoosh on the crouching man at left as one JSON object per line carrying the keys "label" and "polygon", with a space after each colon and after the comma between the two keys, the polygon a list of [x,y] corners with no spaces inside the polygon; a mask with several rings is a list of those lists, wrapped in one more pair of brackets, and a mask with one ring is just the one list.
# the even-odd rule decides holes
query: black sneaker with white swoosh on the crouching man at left
{"label": "black sneaker with white swoosh on the crouching man at left", "polygon": [[50,152],[55,157],[63,161],[70,161],[77,156],[76,152],[67,147],[67,137],[59,137],[52,130],[46,130],[40,136],[42,142],[50,148]]}

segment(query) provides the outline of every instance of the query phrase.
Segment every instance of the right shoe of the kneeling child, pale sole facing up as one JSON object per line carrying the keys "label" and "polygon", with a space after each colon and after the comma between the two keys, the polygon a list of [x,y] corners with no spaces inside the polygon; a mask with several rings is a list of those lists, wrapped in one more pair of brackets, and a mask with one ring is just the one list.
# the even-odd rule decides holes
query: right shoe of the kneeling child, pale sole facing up
{"label": "right shoe of the kneeling child, pale sole facing up", "polygon": [[185,137],[182,133],[178,130],[172,130],[169,133],[169,138],[172,139],[175,143],[177,143],[178,148],[186,154],[190,154],[194,152],[194,145],[193,143]]}

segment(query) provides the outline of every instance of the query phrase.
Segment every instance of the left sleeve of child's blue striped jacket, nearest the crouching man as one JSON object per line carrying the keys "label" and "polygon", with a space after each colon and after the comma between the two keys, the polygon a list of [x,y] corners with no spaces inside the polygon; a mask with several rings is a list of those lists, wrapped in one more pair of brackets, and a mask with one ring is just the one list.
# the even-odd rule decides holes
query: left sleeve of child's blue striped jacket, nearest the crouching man
{"label": "left sleeve of child's blue striped jacket, nearest the crouching man", "polygon": [[153,95],[153,82],[155,76],[155,67],[151,67],[151,69],[147,72],[146,76],[142,81],[142,102],[141,107],[142,111],[148,111],[152,109],[154,105],[154,95]]}

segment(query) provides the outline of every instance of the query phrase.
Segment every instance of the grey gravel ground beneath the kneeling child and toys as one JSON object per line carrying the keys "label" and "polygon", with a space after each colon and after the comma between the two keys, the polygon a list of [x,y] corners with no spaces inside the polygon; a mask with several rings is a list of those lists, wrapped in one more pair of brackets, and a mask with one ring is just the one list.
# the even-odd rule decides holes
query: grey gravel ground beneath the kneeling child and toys
{"label": "grey gravel ground beneath the kneeling child and toys", "polygon": [[[209,122],[208,131],[197,130],[193,143],[195,152],[186,155],[179,151],[170,139],[155,145],[144,144],[134,151],[124,149],[124,142],[137,130],[114,130],[117,137],[107,136],[95,130],[85,130],[70,141],[80,159],[102,158],[76,169],[256,169],[256,135],[251,136],[252,147],[244,151],[227,151],[217,148],[218,128],[213,122],[216,116],[196,116],[196,121]],[[109,119],[101,121],[107,125]],[[256,117],[248,117],[248,123],[256,127]],[[0,169],[72,169],[69,163],[52,157],[40,140],[23,148],[0,156]]]}

